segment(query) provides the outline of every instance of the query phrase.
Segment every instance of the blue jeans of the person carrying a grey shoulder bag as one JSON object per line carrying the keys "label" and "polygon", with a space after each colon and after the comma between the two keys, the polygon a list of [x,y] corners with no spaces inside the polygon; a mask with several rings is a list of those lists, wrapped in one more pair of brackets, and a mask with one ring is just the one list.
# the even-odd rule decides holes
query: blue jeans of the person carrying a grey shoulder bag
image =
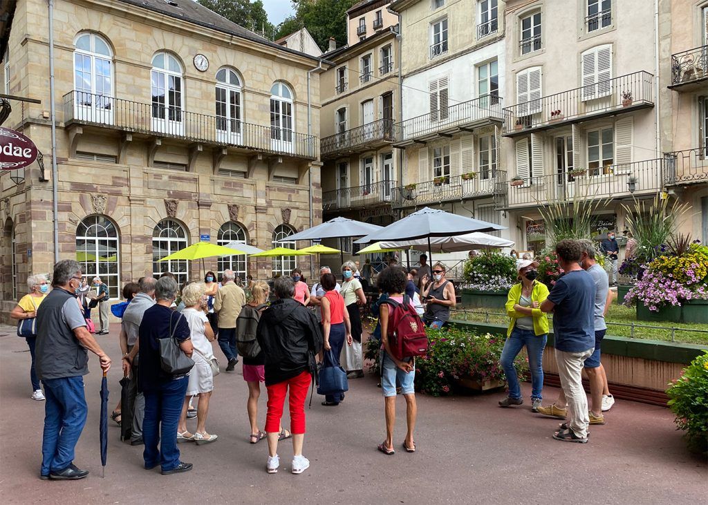
{"label": "blue jeans of the person carrying a grey shoulder bag", "polygon": [[161,384],[159,390],[144,392],[145,419],[142,422],[142,439],[145,448],[142,458],[145,460],[145,468],[153,468],[158,463],[165,471],[178,467],[177,424],[188,383],[189,377],[185,376]]}

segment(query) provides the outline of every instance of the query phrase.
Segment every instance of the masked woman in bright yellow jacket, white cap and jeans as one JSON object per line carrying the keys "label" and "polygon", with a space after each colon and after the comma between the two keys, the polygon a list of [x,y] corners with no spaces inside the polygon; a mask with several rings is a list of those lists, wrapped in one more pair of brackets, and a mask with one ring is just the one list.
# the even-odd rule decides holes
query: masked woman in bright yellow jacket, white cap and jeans
{"label": "masked woman in bright yellow jacket, white cap and jeans", "polygon": [[516,271],[520,282],[511,286],[506,301],[509,328],[506,344],[501,352],[501,366],[509,383],[509,395],[499,402],[500,407],[521,405],[521,386],[516,376],[514,359],[526,346],[531,371],[531,410],[538,412],[542,405],[543,349],[548,338],[548,317],[539,306],[548,296],[548,288],[538,277],[538,262],[518,260]]}

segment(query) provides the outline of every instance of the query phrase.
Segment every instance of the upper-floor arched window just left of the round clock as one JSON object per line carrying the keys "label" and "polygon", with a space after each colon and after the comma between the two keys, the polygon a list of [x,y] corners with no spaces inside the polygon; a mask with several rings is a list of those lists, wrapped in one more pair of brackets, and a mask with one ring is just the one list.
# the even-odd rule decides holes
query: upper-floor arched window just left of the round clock
{"label": "upper-floor arched window just left of the round clock", "polygon": [[152,128],[157,132],[181,135],[184,86],[182,65],[173,54],[159,52],[152,58]]}

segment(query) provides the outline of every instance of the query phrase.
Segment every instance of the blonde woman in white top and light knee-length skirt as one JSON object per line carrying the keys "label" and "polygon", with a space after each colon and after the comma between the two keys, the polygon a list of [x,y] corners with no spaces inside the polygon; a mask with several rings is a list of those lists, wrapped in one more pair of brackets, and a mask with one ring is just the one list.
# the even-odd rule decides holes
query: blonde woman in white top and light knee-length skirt
{"label": "blonde woman in white top and light knee-length skirt", "polygon": [[[194,346],[194,366],[189,374],[187,395],[182,406],[182,414],[177,428],[178,442],[195,442],[197,445],[210,443],[217,439],[215,434],[208,434],[205,428],[209,400],[214,390],[214,374],[209,361],[214,357],[212,344],[215,335],[207,318],[207,286],[203,282],[193,282],[182,290],[185,305],[182,315],[189,324],[192,345]],[[190,397],[199,395],[197,405],[197,430],[194,434],[187,431],[187,409]]]}

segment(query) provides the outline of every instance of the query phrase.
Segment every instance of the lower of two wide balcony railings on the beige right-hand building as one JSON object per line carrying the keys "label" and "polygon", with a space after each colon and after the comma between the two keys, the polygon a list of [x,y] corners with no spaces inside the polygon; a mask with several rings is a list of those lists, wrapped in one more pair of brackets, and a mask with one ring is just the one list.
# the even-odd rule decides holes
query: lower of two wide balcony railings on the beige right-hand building
{"label": "lower of two wide balcony railings on the beige right-hand building", "polygon": [[[661,190],[661,159],[604,166],[584,172],[557,173],[512,180],[509,207],[530,207],[578,198],[627,197]],[[576,175],[573,175],[576,174]]]}

